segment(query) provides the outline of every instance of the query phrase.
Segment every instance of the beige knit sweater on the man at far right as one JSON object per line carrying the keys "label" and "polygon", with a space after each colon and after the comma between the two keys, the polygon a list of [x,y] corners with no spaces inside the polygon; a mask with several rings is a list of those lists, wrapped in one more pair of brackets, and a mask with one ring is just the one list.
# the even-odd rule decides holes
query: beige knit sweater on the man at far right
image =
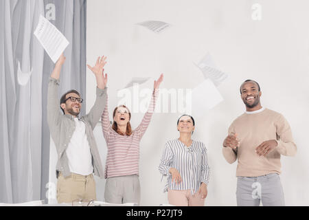
{"label": "beige knit sweater on the man at far right", "polygon": [[[296,153],[290,125],[282,114],[270,109],[262,109],[258,113],[243,113],[229,126],[229,134],[231,133],[237,133],[240,145],[236,150],[223,147],[222,153],[230,164],[238,159],[237,177],[280,174],[280,155],[293,156]],[[266,140],[277,140],[278,145],[265,157],[259,157],[255,148]]]}

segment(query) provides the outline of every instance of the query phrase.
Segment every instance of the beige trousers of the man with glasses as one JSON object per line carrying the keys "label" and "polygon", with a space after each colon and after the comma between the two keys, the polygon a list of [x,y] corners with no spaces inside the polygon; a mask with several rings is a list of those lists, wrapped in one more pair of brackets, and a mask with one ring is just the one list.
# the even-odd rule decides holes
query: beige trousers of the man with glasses
{"label": "beige trousers of the man with glasses", "polygon": [[57,181],[58,203],[95,199],[95,180],[92,174],[83,176],[72,173],[69,177],[64,177],[61,173],[59,174]]}

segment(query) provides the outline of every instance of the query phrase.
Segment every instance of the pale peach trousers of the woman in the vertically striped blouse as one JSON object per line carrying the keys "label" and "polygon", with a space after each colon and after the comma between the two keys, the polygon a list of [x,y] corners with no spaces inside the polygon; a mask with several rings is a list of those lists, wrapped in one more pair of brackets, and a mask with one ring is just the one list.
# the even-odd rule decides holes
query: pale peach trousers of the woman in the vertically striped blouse
{"label": "pale peach trousers of the woman in the vertically striped blouse", "polygon": [[201,195],[191,195],[191,190],[168,189],[168,203],[174,206],[204,206]]}

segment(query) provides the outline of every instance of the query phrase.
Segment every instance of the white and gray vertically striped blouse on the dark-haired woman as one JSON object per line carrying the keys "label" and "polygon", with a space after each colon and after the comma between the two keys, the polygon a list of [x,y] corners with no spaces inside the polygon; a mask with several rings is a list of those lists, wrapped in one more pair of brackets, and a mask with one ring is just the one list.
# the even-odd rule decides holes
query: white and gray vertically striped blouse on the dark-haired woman
{"label": "white and gray vertically striped blouse on the dark-haired woman", "polygon": [[[176,168],[183,180],[180,184],[172,181],[170,168]],[[179,139],[169,140],[165,143],[165,148],[159,165],[162,175],[167,175],[167,184],[164,192],[170,190],[192,190],[196,193],[202,182],[209,182],[209,171],[207,161],[207,148],[203,142],[193,140],[191,146],[185,146]]]}

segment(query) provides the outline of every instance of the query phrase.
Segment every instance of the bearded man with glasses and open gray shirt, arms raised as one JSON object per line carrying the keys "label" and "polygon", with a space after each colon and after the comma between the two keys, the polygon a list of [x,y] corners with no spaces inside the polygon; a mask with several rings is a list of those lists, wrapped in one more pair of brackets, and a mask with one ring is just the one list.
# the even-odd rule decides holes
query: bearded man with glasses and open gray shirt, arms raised
{"label": "bearded man with glasses and open gray shirt, arms raised", "polygon": [[57,201],[91,201],[96,199],[93,173],[104,177],[104,169],[93,129],[99,122],[106,103],[107,75],[104,76],[106,57],[98,58],[94,67],[89,67],[97,82],[96,100],[87,115],[79,117],[83,99],[76,90],[67,91],[58,99],[60,72],[65,63],[63,54],[58,59],[49,78],[47,98],[47,122],[54,140],[58,162],[56,165]]}

